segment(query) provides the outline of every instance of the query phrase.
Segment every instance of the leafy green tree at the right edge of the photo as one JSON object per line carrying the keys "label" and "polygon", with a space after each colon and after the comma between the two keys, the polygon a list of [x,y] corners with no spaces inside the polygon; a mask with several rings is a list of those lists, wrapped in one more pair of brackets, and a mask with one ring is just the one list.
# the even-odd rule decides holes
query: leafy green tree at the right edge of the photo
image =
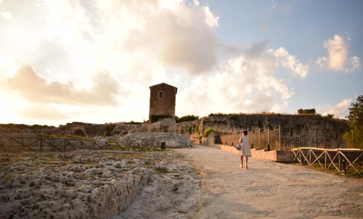
{"label": "leafy green tree at the right edge of the photo", "polygon": [[348,108],[348,125],[351,129],[363,129],[363,95],[358,96],[356,103],[351,103]]}

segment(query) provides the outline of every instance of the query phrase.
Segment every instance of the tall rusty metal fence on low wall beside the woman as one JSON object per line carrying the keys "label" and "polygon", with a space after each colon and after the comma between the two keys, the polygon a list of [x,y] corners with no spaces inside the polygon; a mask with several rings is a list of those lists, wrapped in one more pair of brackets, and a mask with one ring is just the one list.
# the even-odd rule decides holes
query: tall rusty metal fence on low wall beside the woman
{"label": "tall rusty metal fence on low wall beside the woman", "polygon": [[[220,142],[235,146],[241,136],[241,131],[220,135]],[[297,147],[316,148],[361,148],[363,149],[363,130],[349,129],[297,129],[277,128],[265,131],[248,132],[251,147],[270,150],[291,150]]]}

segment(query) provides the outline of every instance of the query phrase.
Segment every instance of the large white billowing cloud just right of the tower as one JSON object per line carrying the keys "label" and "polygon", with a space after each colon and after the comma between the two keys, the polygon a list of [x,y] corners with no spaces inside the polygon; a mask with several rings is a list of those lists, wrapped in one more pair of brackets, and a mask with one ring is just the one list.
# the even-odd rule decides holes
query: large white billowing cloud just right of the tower
{"label": "large white billowing cloud just right of the tower", "polygon": [[283,112],[294,91],[286,81],[276,78],[275,72],[276,58],[271,53],[240,53],[229,59],[223,71],[195,77],[178,92],[177,105],[183,109],[176,113]]}

